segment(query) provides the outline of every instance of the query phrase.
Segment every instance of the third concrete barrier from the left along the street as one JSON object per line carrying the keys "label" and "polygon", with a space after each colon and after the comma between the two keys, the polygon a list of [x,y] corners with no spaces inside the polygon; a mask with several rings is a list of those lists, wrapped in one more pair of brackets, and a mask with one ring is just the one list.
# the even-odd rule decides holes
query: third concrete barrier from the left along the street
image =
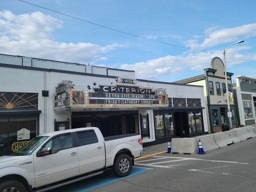
{"label": "third concrete barrier from the left along the street", "polygon": [[228,144],[237,143],[241,140],[237,137],[235,130],[228,130],[224,132],[215,133],[214,139],[219,148],[227,146]]}

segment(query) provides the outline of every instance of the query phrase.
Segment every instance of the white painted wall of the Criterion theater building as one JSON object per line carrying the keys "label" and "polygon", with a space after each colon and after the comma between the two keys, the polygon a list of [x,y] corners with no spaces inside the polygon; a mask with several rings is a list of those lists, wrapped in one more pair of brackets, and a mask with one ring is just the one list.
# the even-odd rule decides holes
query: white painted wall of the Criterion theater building
{"label": "white painted wall of the Criterion theater building", "polygon": [[[54,111],[55,86],[59,82],[70,80],[86,89],[87,85],[91,86],[93,82],[97,84],[115,83],[117,76],[135,78],[135,71],[0,54],[0,92],[38,93],[38,110],[41,112],[39,113],[37,134],[54,131],[54,121],[66,121],[68,119],[68,128],[72,127],[72,111],[62,113]],[[187,105],[187,98],[199,99],[202,119],[205,119],[202,121],[203,132],[208,131],[202,86],[150,81],[139,79],[139,77],[136,80],[137,85],[142,87],[166,88],[168,98],[184,98],[185,105],[183,106],[183,111],[192,111],[193,109],[192,106],[189,107]],[[42,96],[42,90],[48,90],[48,96]],[[4,106],[0,109],[1,114],[16,110],[15,108],[7,109]],[[178,106],[173,106],[173,103],[169,103],[168,109],[166,108],[166,110],[171,112],[176,109],[178,111],[181,110]],[[138,111],[138,131],[136,130],[136,132],[138,133],[141,133],[139,116],[148,114],[150,136],[144,137],[143,143],[157,139],[154,122],[155,110],[150,109],[150,107],[136,109]],[[19,110],[19,112],[22,113],[22,110]]]}

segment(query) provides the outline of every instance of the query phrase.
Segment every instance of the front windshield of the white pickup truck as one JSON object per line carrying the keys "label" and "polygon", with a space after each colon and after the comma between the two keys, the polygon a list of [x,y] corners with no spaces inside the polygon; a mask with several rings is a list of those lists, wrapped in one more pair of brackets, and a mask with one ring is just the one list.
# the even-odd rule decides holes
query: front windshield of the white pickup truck
{"label": "front windshield of the white pickup truck", "polygon": [[12,153],[12,155],[30,155],[48,137],[49,136],[36,136],[16,152]]}

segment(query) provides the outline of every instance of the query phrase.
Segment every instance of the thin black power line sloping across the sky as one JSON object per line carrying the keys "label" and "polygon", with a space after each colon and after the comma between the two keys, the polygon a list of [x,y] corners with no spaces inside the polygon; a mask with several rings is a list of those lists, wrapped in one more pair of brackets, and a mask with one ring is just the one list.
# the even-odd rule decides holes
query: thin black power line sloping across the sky
{"label": "thin black power line sloping across the sky", "polygon": [[[75,19],[78,19],[78,20],[81,20],[81,21],[84,21],[84,22],[88,22],[88,23],[90,23],[90,24],[94,24],[94,25],[97,25],[97,26],[100,26],[100,27],[104,27],[104,28],[107,28],[107,29],[110,29],[110,30],[113,30],[113,31],[116,31],[116,32],[121,32],[121,33],[124,33],[124,34],[128,34],[128,35],[131,35],[131,36],[135,36],[135,37],[138,37],[138,38],[143,38],[143,39],[146,39],[146,40],[151,40],[151,41],[154,41],[154,42],[158,42],[158,43],[162,43],[162,44],[167,44],[167,45],[171,45],[171,46],[176,46],[176,47],[180,47],[180,48],[186,48],[186,49],[190,49],[190,50],[197,50],[197,51],[202,51],[202,52],[220,53],[220,52],[213,52],[213,51],[209,51],[209,50],[199,50],[199,49],[194,49],[194,48],[188,48],[188,47],[184,47],[184,46],[179,46],[179,45],[175,45],[175,44],[170,44],[170,43],[167,43],[167,42],[162,42],[162,41],[158,41],[158,40],[153,40],[153,39],[146,38],[146,37],[143,37],[143,36],[131,34],[131,33],[128,33],[128,32],[121,31],[121,30],[117,30],[117,29],[114,29],[114,28],[110,28],[110,27],[107,27],[107,26],[103,26],[103,25],[100,25],[100,24],[96,24],[96,23],[94,23],[94,22],[90,22],[90,21],[87,21],[87,20],[84,20],[84,19],[81,19],[81,18],[77,18],[77,17],[75,17],[75,16],[71,16],[71,15],[69,15],[69,14],[65,14],[65,13],[58,12],[58,11],[56,11],[56,10],[52,10],[52,9],[49,9],[49,8],[46,8],[46,7],[43,7],[43,6],[39,6],[39,5],[30,3],[30,2],[26,2],[26,1],[24,1],[24,0],[19,0],[19,1],[25,2],[25,3],[27,3],[27,4],[31,4],[31,5],[34,5],[34,6],[38,6],[38,7],[40,7],[40,8],[44,8],[44,9],[47,9],[47,10],[50,10],[50,11],[52,11],[52,12],[56,12],[56,13],[59,13],[59,14],[65,15],[65,16],[69,16],[69,17],[71,17],[71,18],[75,18]],[[234,53],[226,53],[226,54],[234,54]],[[234,55],[244,55],[244,54],[234,54]],[[255,56],[255,55],[244,55],[244,56]]]}

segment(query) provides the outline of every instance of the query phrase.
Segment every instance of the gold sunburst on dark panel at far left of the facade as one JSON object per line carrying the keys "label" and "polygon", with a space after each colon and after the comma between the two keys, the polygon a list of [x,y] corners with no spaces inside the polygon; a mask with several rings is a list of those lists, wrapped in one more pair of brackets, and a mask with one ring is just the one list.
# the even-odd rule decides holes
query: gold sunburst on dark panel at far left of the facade
{"label": "gold sunburst on dark panel at far left of the facade", "polygon": [[38,93],[0,92],[0,109],[38,108]]}

